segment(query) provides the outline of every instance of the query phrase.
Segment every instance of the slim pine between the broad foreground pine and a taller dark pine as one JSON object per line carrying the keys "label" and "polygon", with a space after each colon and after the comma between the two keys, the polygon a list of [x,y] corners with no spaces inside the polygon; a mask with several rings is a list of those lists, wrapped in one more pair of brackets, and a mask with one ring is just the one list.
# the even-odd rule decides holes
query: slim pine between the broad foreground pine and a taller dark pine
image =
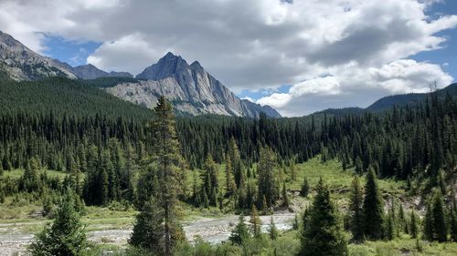
{"label": "slim pine between the broad foreground pine and a taller dark pine", "polygon": [[358,178],[352,180],[351,196],[349,203],[349,226],[354,241],[364,239],[363,192]]}

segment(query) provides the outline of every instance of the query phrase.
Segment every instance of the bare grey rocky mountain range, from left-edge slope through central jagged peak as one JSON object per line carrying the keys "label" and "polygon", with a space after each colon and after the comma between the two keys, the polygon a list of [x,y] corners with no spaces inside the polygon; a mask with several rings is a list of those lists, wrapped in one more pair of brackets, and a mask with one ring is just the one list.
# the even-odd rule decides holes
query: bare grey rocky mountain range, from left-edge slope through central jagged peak
{"label": "bare grey rocky mountain range, from left-edge slope through central jagged peak", "polygon": [[[106,72],[93,65],[71,67],[48,56],[40,56],[13,36],[0,32],[0,68],[17,81],[45,77],[97,79],[128,77],[128,72]],[[153,108],[157,98],[165,96],[183,115],[218,114],[254,118],[264,112],[272,118],[281,115],[269,106],[260,106],[235,96],[196,61],[188,65],[181,56],[166,54],[156,64],[146,67],[137,79],[119,79],[107,92],[136,104]],[[114,80],[117,81],[117,80]]]}

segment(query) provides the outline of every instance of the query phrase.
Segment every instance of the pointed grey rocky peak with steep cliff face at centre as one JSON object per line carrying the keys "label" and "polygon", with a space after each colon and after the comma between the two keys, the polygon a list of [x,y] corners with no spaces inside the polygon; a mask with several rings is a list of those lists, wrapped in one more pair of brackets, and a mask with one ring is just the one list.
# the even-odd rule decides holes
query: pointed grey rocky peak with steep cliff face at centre
{"label": "pointed grey rocky peak with steep cliff face at centre", "polygon": [[188,65],[181,56],[166,54],[156,64],[136,76],[137,83],[123,83],[107,90],[136,104],[153,108],[157,98],[170,99],[175,109],[191,115],[219,114],[234,117],[270,117],[281,115],[268,106],[261,107],[236,97],[196,61]]}

